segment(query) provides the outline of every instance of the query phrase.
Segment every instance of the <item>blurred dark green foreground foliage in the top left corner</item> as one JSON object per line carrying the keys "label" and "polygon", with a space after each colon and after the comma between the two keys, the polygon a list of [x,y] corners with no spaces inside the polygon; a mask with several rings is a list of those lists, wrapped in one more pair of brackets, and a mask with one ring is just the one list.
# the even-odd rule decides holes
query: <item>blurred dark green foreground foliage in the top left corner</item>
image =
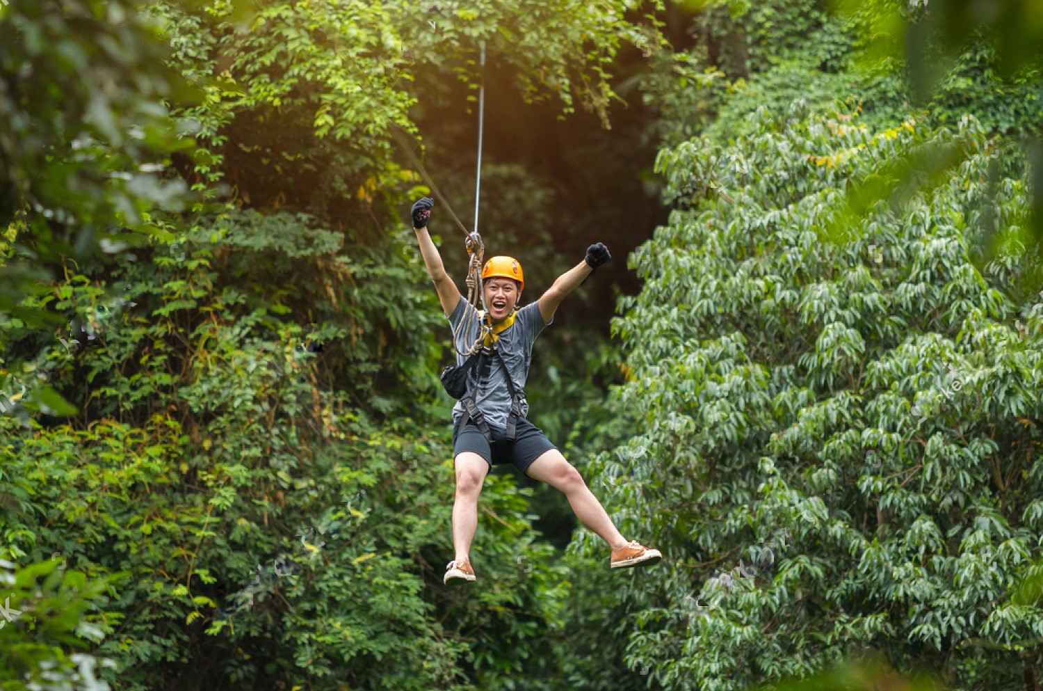
{"label": "blurred dark green foreground foliage in the top left corner", "polygon": [[0,312],[48,321],[16,305],[62,257],[119,252],[151,231],[148,212],[183,207],[185,183],[162,171],[191,142],[166,103],[191,94],[143,4],[0,4],[0,229],[23,224],[0,242]]}

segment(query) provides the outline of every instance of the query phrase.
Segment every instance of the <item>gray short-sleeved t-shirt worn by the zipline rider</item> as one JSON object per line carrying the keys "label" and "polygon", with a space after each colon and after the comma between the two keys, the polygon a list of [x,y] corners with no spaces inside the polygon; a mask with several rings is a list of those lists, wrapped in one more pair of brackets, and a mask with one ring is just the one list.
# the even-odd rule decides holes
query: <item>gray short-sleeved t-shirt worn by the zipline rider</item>
{"label": "gray short-sleeved t-shirt worn by the zipline rider", "polygon": [[[525,387],[526,378],[529,376],[529,365],[532,362],[532,344],[536,336],[543,330],[543,327],[554,320],[544,323],[543,315],[539,313],[539,303],[531,303],[519,309],[514,315],[514,324],[500,333],[500,340],[496,341],[496,350],[504,358],[507,370],[511,373],[511,381],[514,388],[519,394]],[[468,328],[460,327],[465,324]],[[456,333],[457,364],[463,364],[466,357],[460,355],[460,351],[466,352],[478,338],[479,319],[478,310],[467,302],[466,297],[460,297],[456,309],[450,315],[450,325]],[[459,328],[459,332],[457,329]],[[507,388],[507,380],[504,379],[504,368],[500,366],[496,359],[489,358],[485,367],[485,376],[481,382],[477,382],[479,377],[478,367],[471,371],[467,378],[467,394],[471,395],[475,385],[478,385],[478,396],[475,404],[482,411],[486,424],[495,431],[503,432],[507,429],[507,416],[511,411],[511,392]],[[524,396],[524,394],[522,394]],[[529,404],[523,403],[523,414],[529,413]],[[457,401],[453,406],[453,423],[456,424],[463,415],[463,403]]]}

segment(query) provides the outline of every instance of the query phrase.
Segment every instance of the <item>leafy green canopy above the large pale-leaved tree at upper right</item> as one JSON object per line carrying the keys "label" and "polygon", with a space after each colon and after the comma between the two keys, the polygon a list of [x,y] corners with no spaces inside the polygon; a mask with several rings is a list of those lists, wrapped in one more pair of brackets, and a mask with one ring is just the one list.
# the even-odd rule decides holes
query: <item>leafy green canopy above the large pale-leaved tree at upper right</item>
{"label": "leafy green canopy above the large pale-leaved tree at upper right", "polygon": [[[939,27],[920,31],[916,3],[841,4],[840,15],[812,0],[707,4],[693,19],[705,44],[642,79],[646,102],[660,110],[663,141],[676,145],[704,129],[727,141],[748,134],[761,105],[778,110],[796,100],[823,115],[855,102],[876,126],[906,117],[908,103],[919,100],[936,124],[971,113],[993,133],[1017,138],[1038,128],[1036,62],[1000,69],[1000,49],[989,34],[969,34],[942,54],[949,34]],[[904,59],[906,45],[925,53],[926,66]]]}

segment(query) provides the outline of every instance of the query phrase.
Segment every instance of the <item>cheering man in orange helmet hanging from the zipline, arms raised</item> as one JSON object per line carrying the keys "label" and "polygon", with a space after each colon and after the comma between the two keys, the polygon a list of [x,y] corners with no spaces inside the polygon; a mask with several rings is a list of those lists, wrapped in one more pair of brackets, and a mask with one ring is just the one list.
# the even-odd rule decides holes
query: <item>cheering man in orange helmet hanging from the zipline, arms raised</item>
{"label": "cheering man in orange helmet hanging from the zipline, arms raised", "polygon": [[[457,364],[465,365],[467,358],[460,353],[467,353],[481,337],[481,319],[486,317],[460,294],[445,272],[438,248],[428,234],[433,206],[434,201],[428,197],[413,205],[413,231],[442,311],[453,327]],[[487,326],[492,330],[484,337],[484,361],[478,360],[481,364],[466,374],[466,391],[453,408],[456,467],[453,547],[456,555],[445,567],[443,582],[475,580],[470,543],[478,528],[478,496],[493,463],[513,463],[529,477],[564,493],[576,517],[612,549],[611,568],[654,564],[662,557],[659,550],[628,542],[620,533],[579,472],[543,432],[526,420],[529,406],[522,388],[532,361],[533,341],[543,327],[553,321],[554,312],[565,295],[610,259],[604,244],[590,245],[582,262],[558,277],[538,302],[520,309],[517,304],[525,288],[525,277],[518,262],[510,257],[493,257],[485,263],[482,287],[489,308]]]}

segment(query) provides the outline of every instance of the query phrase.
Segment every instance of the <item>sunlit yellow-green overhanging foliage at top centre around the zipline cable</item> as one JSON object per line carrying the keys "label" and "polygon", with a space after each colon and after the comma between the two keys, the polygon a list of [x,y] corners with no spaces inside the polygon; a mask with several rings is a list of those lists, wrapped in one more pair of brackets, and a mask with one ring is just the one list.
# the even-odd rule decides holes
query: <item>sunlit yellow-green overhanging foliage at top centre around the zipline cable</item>
{"label": "sunlit yellow-green overhanging foliage at top centre around the zipline cable", "polygon": [[578,101],[605,117],[605,67],[621,44],[656,45],[653,27],[624,16],[640,4],[323,0],[266,4],[244,25],[224,3],[165,14],[175,64],[196,79],[221,77],[189,112],[210,142],[196,171],[247,204],[317,213],[361,211],[360,201],[415,185],[394,164],[392,141],[416,132],[409,111],[425,102],[411,85],[427,74],[436,89],[457,78],[477,89],[483,42],[490,62],[516,68],[530,98],[556,94],[565,112]]}

